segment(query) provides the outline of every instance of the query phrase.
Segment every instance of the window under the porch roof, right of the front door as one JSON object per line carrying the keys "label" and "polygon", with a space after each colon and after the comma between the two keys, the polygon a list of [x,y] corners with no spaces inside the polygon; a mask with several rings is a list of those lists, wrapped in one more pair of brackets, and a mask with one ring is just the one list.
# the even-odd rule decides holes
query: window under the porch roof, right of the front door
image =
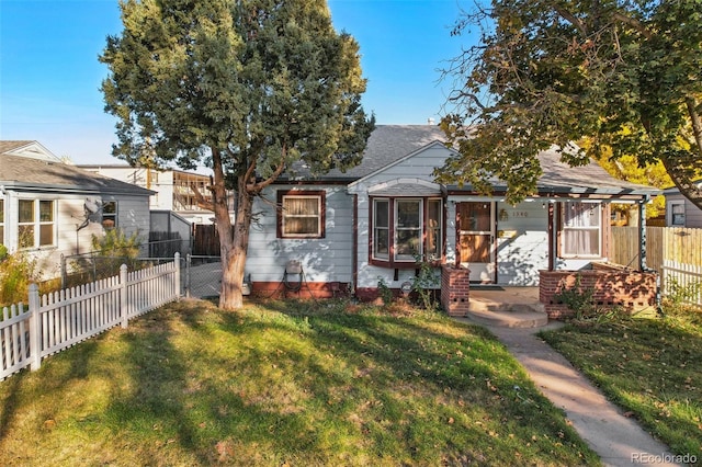
{"label": "window under the porch roof, right of the front door", "polygon": [[599,258],[601,219],[599,203],[563,203],[561,255]]}

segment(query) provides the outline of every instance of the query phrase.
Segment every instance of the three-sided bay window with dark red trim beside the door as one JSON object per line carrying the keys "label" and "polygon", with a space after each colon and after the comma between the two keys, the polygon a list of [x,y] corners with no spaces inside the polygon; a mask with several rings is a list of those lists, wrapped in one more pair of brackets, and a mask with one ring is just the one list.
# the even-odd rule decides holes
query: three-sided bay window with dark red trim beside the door
{"label": "three-sided bay window with dark red trim beside the door", "polygon": [[380,265],[441,259],[443,203],[439,198],[373,198],[371,260]]}

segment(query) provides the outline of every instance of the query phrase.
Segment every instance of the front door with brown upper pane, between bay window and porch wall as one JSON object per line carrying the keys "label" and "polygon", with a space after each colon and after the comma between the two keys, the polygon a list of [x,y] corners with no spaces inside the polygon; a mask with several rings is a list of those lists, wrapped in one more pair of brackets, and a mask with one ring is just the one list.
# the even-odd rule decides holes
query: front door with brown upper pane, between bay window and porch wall
{"label": "front door with brown upper pane, between bay window and porch wall", "polygon": [[495,203],[456,204],[458,258],[471,270],[471,281],[495,282]]}

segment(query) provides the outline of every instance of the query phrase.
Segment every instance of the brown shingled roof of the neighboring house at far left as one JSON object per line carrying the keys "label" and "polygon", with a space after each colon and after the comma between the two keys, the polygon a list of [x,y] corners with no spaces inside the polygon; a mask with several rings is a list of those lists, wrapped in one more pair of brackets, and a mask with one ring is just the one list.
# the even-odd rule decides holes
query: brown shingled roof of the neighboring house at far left
{"label": "brown shingled roof of the neighboring house at far left", "polygon": [[[29,145],[38,145],[29,141]],[[27,141],[0,141],[0,184],[24,191],[90,192],[148,196],[154,192],[81,170],[59,159],[15,156]],[[38,145],[41,147],[41,145]],[[43,148],[43,147],[42,147]],[[48,151],[47,151],[48,152]],[[48,152],[48,156],[50,152]]]}

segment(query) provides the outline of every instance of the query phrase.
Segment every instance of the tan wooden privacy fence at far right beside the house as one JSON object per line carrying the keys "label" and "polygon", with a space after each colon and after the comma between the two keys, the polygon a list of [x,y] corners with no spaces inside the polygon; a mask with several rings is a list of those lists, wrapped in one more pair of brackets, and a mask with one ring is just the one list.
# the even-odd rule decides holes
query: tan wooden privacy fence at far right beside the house
{"label": "tan wooden privacy fence at far right beside the house", "polygon": [[[637,269],[639,252],[638,227],[612,227],[611,262]],[[686,301],[702,306],[693,293],[702,282],[702,229],[646,227],[646,266],[660,274],[664,295],[687,291]]]}

